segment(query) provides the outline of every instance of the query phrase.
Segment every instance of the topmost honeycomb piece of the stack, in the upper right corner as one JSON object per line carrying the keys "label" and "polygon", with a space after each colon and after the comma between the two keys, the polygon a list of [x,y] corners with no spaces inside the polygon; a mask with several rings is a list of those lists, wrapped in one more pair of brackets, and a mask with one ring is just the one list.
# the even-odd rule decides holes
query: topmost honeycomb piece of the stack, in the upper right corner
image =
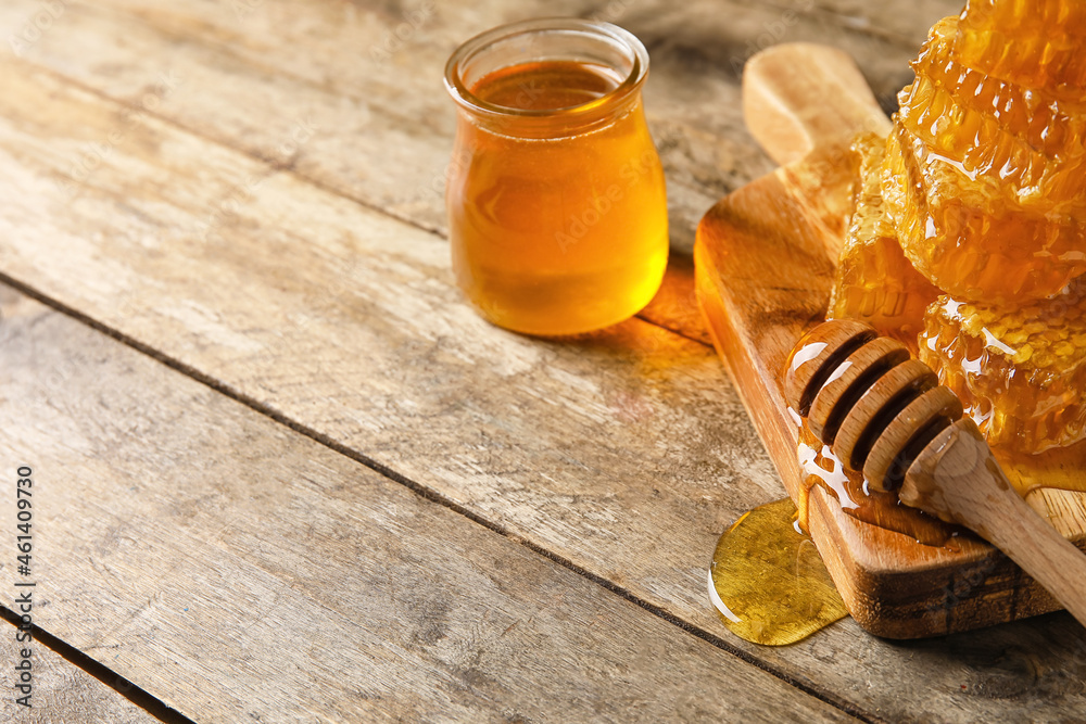
{"label": "topmost honeycomb piece of the stack, in the upper right corner", "polygon": [[1082,100],[1086,5],[1081,0],[969,0],[955,43],[965,65],[994,78]]}

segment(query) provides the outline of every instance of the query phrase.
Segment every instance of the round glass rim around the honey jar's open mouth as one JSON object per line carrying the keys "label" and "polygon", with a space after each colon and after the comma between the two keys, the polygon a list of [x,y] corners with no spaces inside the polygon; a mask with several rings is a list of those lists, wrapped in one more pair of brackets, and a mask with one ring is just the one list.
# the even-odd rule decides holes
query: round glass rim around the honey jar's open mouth
{"label": "round glass rim around the honey jar's open mouth", "polygon": [[[497,105],[482,100],[471,92],[464,82],[463,68],[471,59],[500,40],[517,36],[542,35],[546,33],[582,33],[597,38],[604,38],[622,47],[630,55],[630,71],[615,88],[599,98],[585,101],[578,105],[560,109],[517,109]],[[501,69],[501,68],[495,68]],[[601,109],[608,107],[621,101],[635,91],[648,75],[648,51],[644,43],[629,30],[604,21],[580,20],[570,17],[544,17],[518,23],[509,23],[480,33],[457,48],[445,64],[445,88],[462,107],[480,115],[516,116],[522,118],[574,118],[590,115]]]}

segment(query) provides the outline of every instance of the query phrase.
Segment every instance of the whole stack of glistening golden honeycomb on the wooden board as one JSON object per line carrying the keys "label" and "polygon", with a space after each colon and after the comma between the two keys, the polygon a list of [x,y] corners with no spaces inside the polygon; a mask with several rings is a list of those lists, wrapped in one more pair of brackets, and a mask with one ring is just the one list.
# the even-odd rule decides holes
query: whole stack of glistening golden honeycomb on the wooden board
{"label": "whole stack of glistening golden honeycomb on the wooden board", "polygon": [[[1065,0],[970,0],[935,24],[884,147],[857,140],[828,313],[917,351],[1022,494],[1086,492],[1084,40]],[[943,294],[924,312],[884,302],[910,275]]]}

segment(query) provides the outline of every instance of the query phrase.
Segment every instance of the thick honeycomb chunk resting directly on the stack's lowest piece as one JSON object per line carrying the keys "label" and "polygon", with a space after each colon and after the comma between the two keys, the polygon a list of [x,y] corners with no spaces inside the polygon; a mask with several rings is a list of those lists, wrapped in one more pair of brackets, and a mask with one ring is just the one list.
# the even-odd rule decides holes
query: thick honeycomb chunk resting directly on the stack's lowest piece
{"label": "thick honeycomb chunk resting directly on the stack's lowest piece", "polygon": [[958,300],[1012,306],[1058,294],[1086,271],[1086,226],[1024,211],[900,124],[886,143],[883,198],[905,255]]}

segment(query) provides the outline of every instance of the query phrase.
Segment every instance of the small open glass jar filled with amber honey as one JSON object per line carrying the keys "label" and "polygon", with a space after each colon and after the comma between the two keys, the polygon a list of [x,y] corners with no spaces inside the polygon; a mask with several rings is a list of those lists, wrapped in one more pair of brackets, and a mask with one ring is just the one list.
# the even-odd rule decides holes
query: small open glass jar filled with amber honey
{"label": "small open glass jar filled with amber honey", "polygon": [[450,59],[453,269],[493,323],[588,332],[659,289],[667,195],[641,100],[647,74],[633,35],[593,21],[507,25]]}

